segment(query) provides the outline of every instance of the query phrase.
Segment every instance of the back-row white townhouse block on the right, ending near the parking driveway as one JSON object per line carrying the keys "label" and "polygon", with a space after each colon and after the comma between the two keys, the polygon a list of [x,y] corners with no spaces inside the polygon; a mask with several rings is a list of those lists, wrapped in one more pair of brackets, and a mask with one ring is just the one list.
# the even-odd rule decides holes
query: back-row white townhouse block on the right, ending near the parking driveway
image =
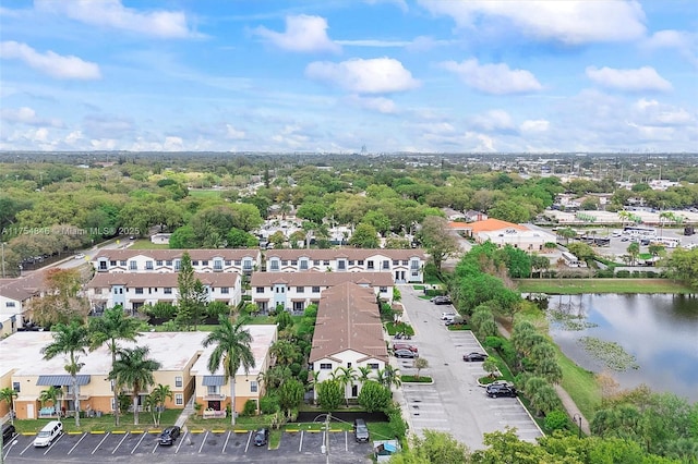
{"label": "back-row white townhouse block on the right, ending near the parking driveway", "polygon": [[426,256],[421,249],[269,249],[267,272],[389,272],[395,282],[423,282]]}

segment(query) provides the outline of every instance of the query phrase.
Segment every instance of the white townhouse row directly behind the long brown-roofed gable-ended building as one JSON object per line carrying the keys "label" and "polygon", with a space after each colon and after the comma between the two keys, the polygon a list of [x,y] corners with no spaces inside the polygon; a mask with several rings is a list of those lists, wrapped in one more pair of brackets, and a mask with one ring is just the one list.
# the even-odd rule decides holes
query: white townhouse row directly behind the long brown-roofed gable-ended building
{"label": "white townhouse row directly behind the long brown-roofed gable-ended building", "polygon": [[250,280],[251,297],[261,312],[274,308],[302,312],[320,303],[327,289],[345,282],[369,288],[374,302],[393,302],[395,284],[388,272],[255,272]]}

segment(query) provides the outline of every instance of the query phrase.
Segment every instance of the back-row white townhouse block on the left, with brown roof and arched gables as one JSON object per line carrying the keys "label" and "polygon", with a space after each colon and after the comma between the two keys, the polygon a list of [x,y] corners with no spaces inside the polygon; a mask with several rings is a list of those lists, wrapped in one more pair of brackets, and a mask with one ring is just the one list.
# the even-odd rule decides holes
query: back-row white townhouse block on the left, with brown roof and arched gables
{"label": "back-row white townhouse block on the left, with brown roof and arched gables", "polygon": [[195,272],[250,274],[262,265],[262,254],[252,248],[101,249],[92,264],[97,272],[178,272],[184,252]]}

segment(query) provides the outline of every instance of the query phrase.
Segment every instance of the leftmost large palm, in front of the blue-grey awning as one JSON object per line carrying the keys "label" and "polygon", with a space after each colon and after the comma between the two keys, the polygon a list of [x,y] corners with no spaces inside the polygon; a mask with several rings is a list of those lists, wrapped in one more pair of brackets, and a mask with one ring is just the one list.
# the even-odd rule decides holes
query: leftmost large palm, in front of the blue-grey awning
{"label": "leftmost large palm, in front of the blue-grey awning", "polygon": [[59,354],[68,355],[65,370],[70,374],[73,383],[73,403],[75,404],[75,427],[80,427],[80,387],[77,384],[77,373],[83,367],[79,363],[80,354],[86,353],[89,346],[87,327],[73,320],[70,325],[57,323],[53,332],[53,342],[41,349],[45,359],[52,359]]}

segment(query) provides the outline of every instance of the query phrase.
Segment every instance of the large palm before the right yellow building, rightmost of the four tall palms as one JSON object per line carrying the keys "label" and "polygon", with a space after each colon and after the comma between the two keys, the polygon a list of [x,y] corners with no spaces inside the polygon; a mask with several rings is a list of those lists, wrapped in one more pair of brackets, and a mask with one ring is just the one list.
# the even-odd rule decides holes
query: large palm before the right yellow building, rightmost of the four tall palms
{"label": "large palm before the right yellow building, rightmost of the four tall palms", "polygon": [[204,339],[203,345],[207,347],[215,344],[216,347],[208,358],[208,370],[213,374],[222,366],[224,378],[230,383],[230,424],[236,425],[236,374],[242,367],[244,373],[250,373],[254,367],[254,355],[250,349],[252,335],[244,330],[244,319],[232,322],[226,316],[219,317],[219,325]]}

